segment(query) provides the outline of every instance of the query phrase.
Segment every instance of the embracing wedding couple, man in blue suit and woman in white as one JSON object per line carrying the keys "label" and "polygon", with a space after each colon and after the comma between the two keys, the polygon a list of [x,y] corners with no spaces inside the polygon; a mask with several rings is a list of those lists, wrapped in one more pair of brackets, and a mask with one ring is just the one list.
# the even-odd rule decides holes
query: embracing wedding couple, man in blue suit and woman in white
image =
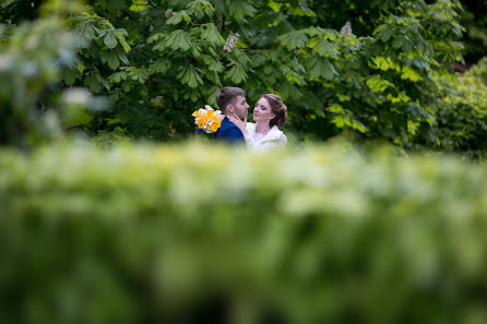
{"label": "embracing wedding couple, man in blue suit and woman in white", "polygon": [[239,87],[224,87],[216,95],[216,104],[225,118],[213,134],[215,141],[246,143],[253,151],[286,146],[286,135],[280,130],[287,121],[287,107],[273,94],[262,95],[253,108],[253,122],[247,122],[249,105]]}

